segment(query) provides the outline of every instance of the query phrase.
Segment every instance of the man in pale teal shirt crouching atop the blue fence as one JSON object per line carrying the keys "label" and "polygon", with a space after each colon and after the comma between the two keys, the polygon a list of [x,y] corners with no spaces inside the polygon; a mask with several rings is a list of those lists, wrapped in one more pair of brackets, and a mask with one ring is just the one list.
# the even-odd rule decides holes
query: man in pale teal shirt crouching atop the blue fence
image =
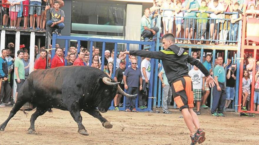
{"label": "man in pale teal shirt crouching atop the blue fence", "polygon": [[[152,19],[156,15],[152,16]],[[150,40],[153,40],[155,34],[159,31],[157,26],[151,28],[151,19],[150,19],[150,10],[149,8],[145,9],[144,15],[141,18],[141,41],[145,41],[145,38],[148,37]]]}

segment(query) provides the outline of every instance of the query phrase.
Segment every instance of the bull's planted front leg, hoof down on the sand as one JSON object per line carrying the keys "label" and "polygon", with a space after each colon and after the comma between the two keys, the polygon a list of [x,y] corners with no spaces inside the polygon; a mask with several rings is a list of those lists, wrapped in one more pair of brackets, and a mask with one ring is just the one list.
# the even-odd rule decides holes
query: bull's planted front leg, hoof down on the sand
{"label": "bull's planted front leg, hoof down on the sand", "polygon": [[84,128],[84,125],[82,124],[82,116],[80,114],[79,108],[73,106],[73,108],[69,108],[68,110],[75,122],[77,122],[78,133],[82,135],[89,135],[87,130]]}

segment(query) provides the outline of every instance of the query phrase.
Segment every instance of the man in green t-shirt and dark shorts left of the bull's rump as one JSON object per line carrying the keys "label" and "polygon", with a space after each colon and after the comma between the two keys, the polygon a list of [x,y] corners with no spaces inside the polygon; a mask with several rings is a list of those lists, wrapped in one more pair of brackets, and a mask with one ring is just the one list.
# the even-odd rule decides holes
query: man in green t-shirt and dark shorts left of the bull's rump
{"label": "man in green t-shirt and dark shorts left of the bull's rump", "polygon": [[14,61],[14,79],[17,84],[16,88],[16,93],[15,93],[15,103],[17,100],[17,94],[19,89],[21,88],[22,84],[25,81],[25,76],[24,76],[24,63],[23,63],[23,56],[24,56],[24,51],[23,50],[18,50],[17,51],[17,57]]}

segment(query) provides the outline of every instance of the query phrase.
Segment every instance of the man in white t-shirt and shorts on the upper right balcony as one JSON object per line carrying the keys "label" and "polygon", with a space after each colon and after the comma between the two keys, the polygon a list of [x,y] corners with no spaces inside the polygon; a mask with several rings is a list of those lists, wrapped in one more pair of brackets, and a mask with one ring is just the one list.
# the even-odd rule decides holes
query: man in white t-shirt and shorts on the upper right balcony
{"label": "man in white t-shirt and shorts on the upper right balcony", "polygon": [[[218,0],[214,0],[213,2],[210,2],[208,7],[209,7],[209,10],[207,10],[207,11],[214,12],[214,13],[210,14],[210,18],[218,19],[220,17],[220,15],[223,15],[220,13],[224,11],[224,6],[222,4],[220,4],[218,2]],[[224,18],[225,18],[225,16],[224,16]],[[214,40],[215,38],[217,38],[216,36],[217,36],[217,30],[218,30],[218,26],[219,26],[219,20],[215,20],[215,19],[209,20],[210,40]],[[210,44],[214,45],[215,43],[211,41]]]}

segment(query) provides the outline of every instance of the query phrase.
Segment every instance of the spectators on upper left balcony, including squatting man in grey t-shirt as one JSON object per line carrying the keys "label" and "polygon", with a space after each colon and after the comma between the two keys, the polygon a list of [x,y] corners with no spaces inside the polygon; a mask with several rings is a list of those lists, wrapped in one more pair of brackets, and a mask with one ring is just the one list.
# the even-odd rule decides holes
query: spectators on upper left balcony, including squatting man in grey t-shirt
{"label": "spectators on upper left balcony, including squatting man in grey t-shirt", "polygon": [[[46,17],[49,14],[51,20],[47,25],[52,32],[57,29],[60,35],[64,28],[64,11],[60,7],[64,6],[63,0],[1,0],[0,12],[2,16],[2,28],[45,30]],[[47,13],[49,10],[49,13]],[[28,20],[29,17],[29,20]],[[10,18],[10,23],[9,22]],[[23,20],[23,24],[21,24]],[[36,29],[35,29],[36,23]]]}

